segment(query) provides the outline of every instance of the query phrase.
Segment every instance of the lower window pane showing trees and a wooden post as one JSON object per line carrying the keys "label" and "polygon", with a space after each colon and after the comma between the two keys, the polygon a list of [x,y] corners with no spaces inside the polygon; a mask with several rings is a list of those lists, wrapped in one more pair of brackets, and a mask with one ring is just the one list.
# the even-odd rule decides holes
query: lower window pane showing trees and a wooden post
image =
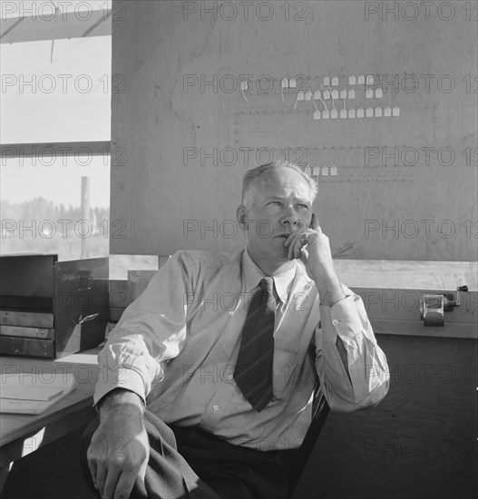
{"label": "lower window pane showing trees and a wooden post", "polygon": [[[82,179],[89,184],[83,211]],[[109,156],[3,159],[0,180],[2,254],[108,256]]]}

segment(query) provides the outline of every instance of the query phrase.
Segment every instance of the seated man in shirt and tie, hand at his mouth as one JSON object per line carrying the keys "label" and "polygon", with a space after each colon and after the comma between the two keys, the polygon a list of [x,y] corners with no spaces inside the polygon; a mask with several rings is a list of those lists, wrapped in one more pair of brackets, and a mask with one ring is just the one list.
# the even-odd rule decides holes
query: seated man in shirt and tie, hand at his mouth
{"label": "seated man in shirt and tie, hand at his mouth", "polygon": [[337,278],[316,193],[290,163],[248,171],[237,210],[248,248],[178,251],[125,310],[85,435],[103,499],[287,497],[315,371],[331,410],[385,396],[385,355]]}

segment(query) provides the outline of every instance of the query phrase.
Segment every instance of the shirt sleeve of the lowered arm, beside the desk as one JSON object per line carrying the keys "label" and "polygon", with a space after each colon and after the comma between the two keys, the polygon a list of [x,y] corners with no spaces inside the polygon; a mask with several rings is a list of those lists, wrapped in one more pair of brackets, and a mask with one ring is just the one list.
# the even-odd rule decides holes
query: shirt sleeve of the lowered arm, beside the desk
{"label": "shirt sleeve of the lowered arm, beside the desk", "polygon": [[192,293],[187,259],[175,253],[124,310],[98,356],[94,404],[114,388],[132,390],[145,400],[152,384],[164,377],[164,363],[179,355]]}

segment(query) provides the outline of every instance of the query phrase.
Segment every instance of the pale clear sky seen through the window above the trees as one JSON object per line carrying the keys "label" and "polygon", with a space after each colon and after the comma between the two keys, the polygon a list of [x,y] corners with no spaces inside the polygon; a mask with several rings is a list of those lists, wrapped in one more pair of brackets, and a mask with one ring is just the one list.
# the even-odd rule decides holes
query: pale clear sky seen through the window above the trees
{"label": "pale clear sky seen through the window above the trees", "polygon": [[[2,2],[2,19],[23,14],[15,5],[23,5],[24,15],[29,6],[42,5],[37,18],[50,18],[46,4],[81,18],[111,2]],[[111,36],[0,44],[0,61],[2,144],[111,140]],[[92,206],[110,204],[108,156],[52,157],[38,149],[34,158],[0,161],[2,200],[43,196],[56,204],[79,205],[81,177],[89,176]]]}

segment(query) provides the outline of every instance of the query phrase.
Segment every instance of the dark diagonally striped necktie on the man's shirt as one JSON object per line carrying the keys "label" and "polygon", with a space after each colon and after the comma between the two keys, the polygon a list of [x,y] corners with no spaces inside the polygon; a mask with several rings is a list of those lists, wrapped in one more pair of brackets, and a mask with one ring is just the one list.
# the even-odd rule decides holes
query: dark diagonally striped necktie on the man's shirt
{"label": "dark diagonally striped necktie on the man's shirt", "polygon": [[234,379],[240,391],[258,412],[272,399],[276,313],[273,287],[274,279],[262,279],[259,291],[250,301],[234,369]]}

